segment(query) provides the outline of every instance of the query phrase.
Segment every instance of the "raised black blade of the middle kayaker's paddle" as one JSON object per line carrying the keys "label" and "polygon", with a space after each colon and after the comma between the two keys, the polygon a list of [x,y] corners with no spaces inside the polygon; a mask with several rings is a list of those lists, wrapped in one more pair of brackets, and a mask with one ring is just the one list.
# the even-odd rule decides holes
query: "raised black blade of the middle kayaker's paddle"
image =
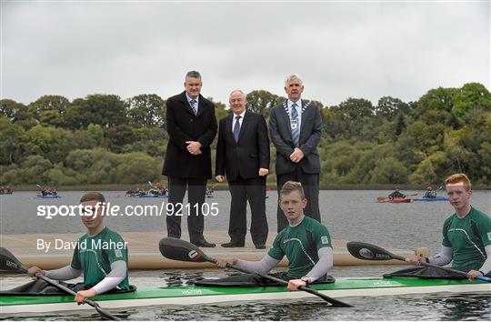
{"label": "raised black blade of the middle kayaker's paddle", "polygon": [[165,237],[158,242],[163,257],[184,262],[206,262],[205,253],[195,245],[173,237]]}

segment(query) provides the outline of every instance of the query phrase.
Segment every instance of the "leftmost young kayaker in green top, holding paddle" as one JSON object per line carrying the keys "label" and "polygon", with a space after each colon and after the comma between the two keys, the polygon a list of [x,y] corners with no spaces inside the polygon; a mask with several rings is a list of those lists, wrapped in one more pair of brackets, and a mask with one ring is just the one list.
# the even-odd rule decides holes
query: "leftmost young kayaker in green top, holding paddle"
{"label": "leftmost young kayaker in green top, holding paddle", "polygon": [[84,289],[78,291],[75,301],[82,304],[85,298],[95,297],[114,288],[128,289],[128,252],[123,238],[104,225],[105,197],[98,192],[88,192],[80,199],[84,216],[82,223],[87,233],[77,240],[72,263],[66,267],[44,271],[30,267],[31,277],[44,274],[56,280],[68,280],[84,274]]}

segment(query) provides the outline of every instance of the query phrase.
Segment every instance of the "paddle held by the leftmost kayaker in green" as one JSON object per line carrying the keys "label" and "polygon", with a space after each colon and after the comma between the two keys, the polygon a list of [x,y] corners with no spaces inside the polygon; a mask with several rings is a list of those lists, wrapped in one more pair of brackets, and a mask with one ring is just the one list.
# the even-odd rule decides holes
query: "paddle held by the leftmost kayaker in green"
{"label": "paddle held by the leftmost kayaker in green", "polygon": [[[12,254],[8,249],[5,247],[0,247],[0,269],[2,270],[9,270],[9,271],[15,271],[15,272],[22,272],[22,273],[27,273],[27,267],[22,264],[15,256]],[[76,293],[71,290],[68,287],[64,287],[63,285],[56,283],[53,279],[49,277],[45,277],[43,274],[36,273],[35,277],[41,278],[45,280],[47,283],[51,284],[54,287],[57,287],[61,289],[62,291],[65,291],[68,294],[71,294],[73,296],[76,295]],[[105,310],[99,306],[98,303],[95,301],[85,298],[84,302],[88,304],[91,307],[94,307],[97,312],[101,315],[101,317],[104,317],[106,319],[110,320],[115,320],[118,321],[120,318],[115,317],[111,315],[110,313],[105,312]]]}

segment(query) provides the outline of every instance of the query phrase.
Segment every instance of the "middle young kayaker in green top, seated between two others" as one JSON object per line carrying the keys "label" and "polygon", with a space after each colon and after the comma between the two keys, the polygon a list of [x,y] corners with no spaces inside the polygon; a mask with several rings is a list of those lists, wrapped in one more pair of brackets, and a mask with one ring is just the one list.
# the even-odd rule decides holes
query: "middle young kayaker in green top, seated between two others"
{"label": "middle young kayaker in green top, seated between two others", "polygon": [[[267,273],[288,258],[288,290],[295,291],[314,281],[323,281],[333,267],[333,247],[326,226],[304,215],[306,196],[299,182],[288,181],[280,192],[280,208],[289,225],[275,238],[273,247],[260,261],[234,259],[233,264],[260,273]],[[228,262],[219,259],[216,265],[225,268]]]}

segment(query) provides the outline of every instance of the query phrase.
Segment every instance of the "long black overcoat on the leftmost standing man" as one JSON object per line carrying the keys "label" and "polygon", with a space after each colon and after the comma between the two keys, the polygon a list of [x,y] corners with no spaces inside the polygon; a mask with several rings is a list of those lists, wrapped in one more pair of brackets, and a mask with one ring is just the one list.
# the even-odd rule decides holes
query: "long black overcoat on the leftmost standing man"
{"label": "long black overcoat on the leftmost standing man", "polygon": [[[198,113],[195,115],[183,92],[169,97],[166,106],[169,142],[162,174],[164,176],[211,178],[210,146],[216,136],[215,105],[200,95]],[[189,154],[185,141],[201,143],[201,155]]]}

